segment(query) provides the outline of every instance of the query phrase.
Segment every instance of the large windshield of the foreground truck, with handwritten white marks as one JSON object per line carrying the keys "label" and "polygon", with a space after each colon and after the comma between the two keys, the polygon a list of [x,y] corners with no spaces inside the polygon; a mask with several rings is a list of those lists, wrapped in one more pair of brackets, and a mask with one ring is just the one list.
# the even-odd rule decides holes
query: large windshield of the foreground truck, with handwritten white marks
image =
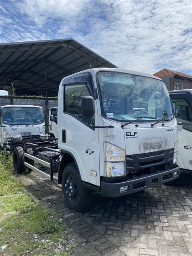
{"label": "large windshield of the foreground truck, with handwritten white marks", "polygon": [[[102,114],[109,119],[127,122],[143,116],[137,122],[154,122],[173,113],[169,92],[158,79],[108,71],[97,78]],[[163,122],[171,119],[173,115]]]}

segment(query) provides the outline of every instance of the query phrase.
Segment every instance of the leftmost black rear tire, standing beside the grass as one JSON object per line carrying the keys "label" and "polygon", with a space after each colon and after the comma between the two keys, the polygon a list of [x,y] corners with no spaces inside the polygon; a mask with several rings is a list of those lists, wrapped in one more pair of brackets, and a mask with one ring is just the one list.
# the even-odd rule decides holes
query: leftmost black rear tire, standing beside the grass
{"label": "leftmost black rear tire, standing beside the grass", "polygon": [[15,147],[13,149],[13,166],[17,173],[23,173],[25,171],[24,154],[22,147]]}

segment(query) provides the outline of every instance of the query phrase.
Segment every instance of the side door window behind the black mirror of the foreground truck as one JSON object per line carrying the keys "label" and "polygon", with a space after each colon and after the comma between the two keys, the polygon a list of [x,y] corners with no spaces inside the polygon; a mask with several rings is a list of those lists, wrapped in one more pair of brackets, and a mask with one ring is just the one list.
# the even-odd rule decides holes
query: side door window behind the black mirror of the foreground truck
{"label": "side door window behind the black mirror of the foreground truck", "polygon": [[[87,90],[86,85],[79,83],[73,85],[65,85],[64,93],[64,112],[69,113],[87,123],[87,118],[81,114],[81,100],[83,96],[91,96],[90,92]],[[90,123],[94,124],[94,117],[90,119]]]}

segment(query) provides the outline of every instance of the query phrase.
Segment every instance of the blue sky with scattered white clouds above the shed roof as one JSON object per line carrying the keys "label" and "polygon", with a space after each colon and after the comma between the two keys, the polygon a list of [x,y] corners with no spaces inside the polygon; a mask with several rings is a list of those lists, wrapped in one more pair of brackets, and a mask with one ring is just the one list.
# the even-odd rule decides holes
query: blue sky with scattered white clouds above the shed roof
{"label": "blue sky with scattered white clouds above the shed roof", "polygon": [[0,0],[0,43],[59,38],[119,68],[192,75],[191,0]]}

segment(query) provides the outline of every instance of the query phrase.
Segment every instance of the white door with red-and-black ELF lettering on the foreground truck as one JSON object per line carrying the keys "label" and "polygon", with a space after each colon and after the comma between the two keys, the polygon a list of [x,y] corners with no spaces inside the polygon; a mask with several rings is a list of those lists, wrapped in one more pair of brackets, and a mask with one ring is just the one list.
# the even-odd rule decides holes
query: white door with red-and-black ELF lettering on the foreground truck
{"label": "white door with red-and-black ELF lettering on the foreground truck", "polygon": [[[99,186],[98,129],[90,128],[87,118],[81,115],[81,99],[83,96],[92,95],[87,84],[83,82],[70,83],[63,87],[64,110],[58,120],[59,147],[73,154],[83,181]],[[90,123],[98,125],[96,101],[95,113]],[[96,171],[96,176],[93,176],[91,171]]]}

